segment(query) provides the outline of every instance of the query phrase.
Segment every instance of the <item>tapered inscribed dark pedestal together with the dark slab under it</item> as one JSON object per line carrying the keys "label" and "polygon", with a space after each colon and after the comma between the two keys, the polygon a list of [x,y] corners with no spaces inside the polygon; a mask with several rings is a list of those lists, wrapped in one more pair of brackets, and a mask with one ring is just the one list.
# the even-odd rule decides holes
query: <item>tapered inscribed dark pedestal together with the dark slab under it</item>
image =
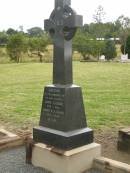
{"label": "tapered inscribed dark pedestal together with the dark slab under it", "polygon": [[86,127],[82,90],[76,85],[45,87],[40,126],[33,129],[35,142],[70,150],[93,142]]}

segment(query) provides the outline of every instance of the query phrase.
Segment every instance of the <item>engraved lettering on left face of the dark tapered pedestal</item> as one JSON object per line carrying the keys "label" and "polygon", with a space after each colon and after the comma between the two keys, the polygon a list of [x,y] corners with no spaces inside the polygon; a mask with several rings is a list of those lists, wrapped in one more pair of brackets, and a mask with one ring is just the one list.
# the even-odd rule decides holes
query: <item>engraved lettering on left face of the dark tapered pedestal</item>
{"label": "engraved lettering on left face of the dark tapered pedestal", "polygon": [[44,115],[47,121],[57,122],[64,116],[64,97],[62,89],[47,89],[44,94]]}

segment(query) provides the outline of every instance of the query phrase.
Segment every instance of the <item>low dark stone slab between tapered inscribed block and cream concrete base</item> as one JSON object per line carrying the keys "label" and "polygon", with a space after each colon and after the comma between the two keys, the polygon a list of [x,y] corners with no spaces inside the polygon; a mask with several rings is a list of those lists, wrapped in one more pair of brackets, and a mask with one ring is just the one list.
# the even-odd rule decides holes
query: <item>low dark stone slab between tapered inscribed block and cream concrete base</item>
{"label": "low dark stone slab between tapered inscribed block and cream concrete base", "polygon": [[35,142],[42,142],[53,147],[70,150],[93,142],[93,131],[89,128],[62,132],[45,127],[33,129]]}

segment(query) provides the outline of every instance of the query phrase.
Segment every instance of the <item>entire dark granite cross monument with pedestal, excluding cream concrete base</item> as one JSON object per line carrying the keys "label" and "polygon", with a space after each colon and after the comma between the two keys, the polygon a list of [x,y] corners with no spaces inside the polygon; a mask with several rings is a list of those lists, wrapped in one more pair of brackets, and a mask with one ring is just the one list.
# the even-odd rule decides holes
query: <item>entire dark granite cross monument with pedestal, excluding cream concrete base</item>
{"label": "entire dark granite cross monument with pedestal, excluding cream concrete base", "polygon": [[82,91],[73,85],[72,75],[72,38],[83,19],[70,4],[71,0],[55,0],[55,9],[45,20],[54,44],[53,85],[44,89],[40,126],[33,129],[35,142],[66,150],[93,142]]}

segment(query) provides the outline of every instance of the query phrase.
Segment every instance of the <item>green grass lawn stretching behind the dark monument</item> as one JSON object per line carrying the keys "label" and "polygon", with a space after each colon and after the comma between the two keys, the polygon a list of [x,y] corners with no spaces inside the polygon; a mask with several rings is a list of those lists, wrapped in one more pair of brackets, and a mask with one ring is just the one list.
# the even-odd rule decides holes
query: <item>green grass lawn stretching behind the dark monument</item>
{"label": "green grass lawn stretching behind the dark monument", "polygon": [[[89,127],[130,125],[130,64],[75,62],[73,68]],[[43,88],[51,78],[52,64],[1,64],[0,123],[37,125]]]}

